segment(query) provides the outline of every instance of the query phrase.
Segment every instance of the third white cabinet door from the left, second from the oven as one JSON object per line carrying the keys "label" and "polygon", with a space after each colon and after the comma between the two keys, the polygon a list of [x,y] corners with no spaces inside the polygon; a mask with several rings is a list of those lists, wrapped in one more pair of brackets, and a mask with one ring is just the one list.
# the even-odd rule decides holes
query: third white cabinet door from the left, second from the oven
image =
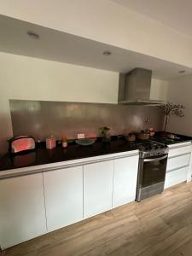
{"label": "third white cabinet door from the left, second from the oven", "polygon": [[84,218],[112,209],[113,160],[84,165]]}

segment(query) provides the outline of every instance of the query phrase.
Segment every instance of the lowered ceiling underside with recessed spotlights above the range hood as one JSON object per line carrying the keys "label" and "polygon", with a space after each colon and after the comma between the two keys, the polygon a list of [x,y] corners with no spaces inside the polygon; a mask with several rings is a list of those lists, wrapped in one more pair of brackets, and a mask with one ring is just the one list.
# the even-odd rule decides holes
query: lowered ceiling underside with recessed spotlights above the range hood
{"label": "lowered ceiling underside with recessed spotlights above the range hood", "polygon": [[[122,73],[135,67],[143,67],[151,69],[153,77],[157,79],[172,79],[183,75],[178,73],[178,70],[192,73],[192,68],[189,67],[3,15],[0,15],[0,31],[0,51],[15,55],[32,56]],[[37,32],[40,38],[29,38],[27,31]],[[104,50],[110,50],[112,55],[102,55]]]}

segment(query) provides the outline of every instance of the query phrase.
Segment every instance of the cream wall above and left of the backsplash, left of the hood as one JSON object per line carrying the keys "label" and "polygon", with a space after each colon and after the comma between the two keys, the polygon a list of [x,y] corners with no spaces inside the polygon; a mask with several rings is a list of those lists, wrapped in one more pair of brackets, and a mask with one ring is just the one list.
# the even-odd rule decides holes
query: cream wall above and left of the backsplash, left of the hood
{"label": "cream wall above and left of the backsplash, left of the hood", "polygon": [[118,73],[5,53],[0,67],[0,153],[13,135],[9,99],[117,103]]}

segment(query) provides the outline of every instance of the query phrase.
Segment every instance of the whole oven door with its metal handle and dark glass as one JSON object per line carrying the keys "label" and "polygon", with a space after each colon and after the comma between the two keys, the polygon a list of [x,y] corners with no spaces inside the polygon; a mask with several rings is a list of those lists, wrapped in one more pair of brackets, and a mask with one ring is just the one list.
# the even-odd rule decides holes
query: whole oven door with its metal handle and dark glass
{"label": "whole oven door with its metal handle and dark glass", "polygon": [[165,182],[167,154],[140,161],[139,186],[145,188],[155,183]]}

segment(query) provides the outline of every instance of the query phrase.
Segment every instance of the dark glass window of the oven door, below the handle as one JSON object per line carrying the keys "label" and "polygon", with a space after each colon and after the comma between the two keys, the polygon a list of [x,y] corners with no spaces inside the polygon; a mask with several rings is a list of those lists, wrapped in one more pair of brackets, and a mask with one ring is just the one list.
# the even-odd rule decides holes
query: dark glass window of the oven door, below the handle
{"label": "dark glass window of the oven door, below the handle", "polygon": [[165,181],[166,162],[167,158],[163,160],[151,159],[151,161],[143,162],[142,187],[148,187],[154,183],[160,183]]}

